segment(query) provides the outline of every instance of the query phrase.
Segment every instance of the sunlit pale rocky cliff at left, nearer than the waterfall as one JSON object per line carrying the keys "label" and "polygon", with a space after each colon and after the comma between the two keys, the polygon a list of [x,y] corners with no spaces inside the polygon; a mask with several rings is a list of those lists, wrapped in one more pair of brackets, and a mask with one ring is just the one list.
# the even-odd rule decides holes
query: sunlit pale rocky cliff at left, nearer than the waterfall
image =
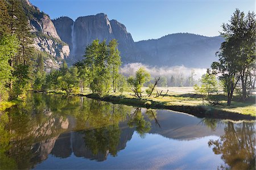
{"label": "sunlit pale rocky cliff at left, nearer than the waterfall", "polygon": [[22,6],[28,16],[35,49],[46,52],[49,57],[45,59],[45,65],[49,66],[48,61],[51,61],[52,67],[57,69],[58,61],[67,58],[70,54],[68,44],[60,39],[55,25],[47,14],[41,12],[28,0],[22,0]]}

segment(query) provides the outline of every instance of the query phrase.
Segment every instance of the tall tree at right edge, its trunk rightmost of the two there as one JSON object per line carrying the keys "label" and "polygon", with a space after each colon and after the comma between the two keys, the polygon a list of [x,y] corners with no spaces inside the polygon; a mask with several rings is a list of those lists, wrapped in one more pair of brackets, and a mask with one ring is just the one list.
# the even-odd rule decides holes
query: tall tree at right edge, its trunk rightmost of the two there
{"label": "tall tree at right edge, its trunk rightmost of the two there", "polygon": [[230,24],[223,24],[224,37],[232,39],[236,44],[237,71],[240,74],[242,85],[242,99],[245,100],[249,91],[246,86],[249,75],[255,67],[256,50],[256,23],[254,12],[248,12],[247,16],[240,10],[236,10],[230,20]]}

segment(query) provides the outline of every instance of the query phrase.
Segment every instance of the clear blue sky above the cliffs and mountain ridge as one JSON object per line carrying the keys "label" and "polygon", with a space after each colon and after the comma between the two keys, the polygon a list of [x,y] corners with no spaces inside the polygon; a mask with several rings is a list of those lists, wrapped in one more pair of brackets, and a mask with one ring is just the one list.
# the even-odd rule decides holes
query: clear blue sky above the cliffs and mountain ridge
{"label": "clear blue sky above the cliffs and mountain ridge", "polygon": [[30,0],[52,19],[105,13],[125,24],[134,41],[177,32],[217,36],[236,8],[255,11],[254,0]]}

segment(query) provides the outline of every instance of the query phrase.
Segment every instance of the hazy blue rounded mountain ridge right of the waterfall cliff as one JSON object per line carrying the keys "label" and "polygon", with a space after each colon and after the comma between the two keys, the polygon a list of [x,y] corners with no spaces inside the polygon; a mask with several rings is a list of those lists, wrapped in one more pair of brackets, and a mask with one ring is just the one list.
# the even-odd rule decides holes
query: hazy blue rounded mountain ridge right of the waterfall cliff
{"label": "hazy blue rounded mountain ridge right of the waterfall cliff", "polygon": [[143,63],[154,66],[209,67],[224,39],[192,33],[175,33],[160,39],[136,42]]}

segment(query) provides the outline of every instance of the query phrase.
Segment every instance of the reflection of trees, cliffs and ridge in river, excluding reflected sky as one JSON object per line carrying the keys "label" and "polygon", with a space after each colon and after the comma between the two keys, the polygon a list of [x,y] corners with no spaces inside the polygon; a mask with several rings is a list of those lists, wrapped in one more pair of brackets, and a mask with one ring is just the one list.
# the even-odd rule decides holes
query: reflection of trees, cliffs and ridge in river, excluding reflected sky
{"label": "reflection of trees, cliffs and ridge in river, excluding reflected sky", "polygon": [[176,141],[215,135],[220,139],[210,141],[209,146],[226,164],[255,167],[255,129],[249,123],[34,93],[28,94],[26,103],[1,114],[0,120],[0,169],[34,168],[49,155],[102,162],[108,156],[118,156],[134,133],[142,138],[159,134]]}

